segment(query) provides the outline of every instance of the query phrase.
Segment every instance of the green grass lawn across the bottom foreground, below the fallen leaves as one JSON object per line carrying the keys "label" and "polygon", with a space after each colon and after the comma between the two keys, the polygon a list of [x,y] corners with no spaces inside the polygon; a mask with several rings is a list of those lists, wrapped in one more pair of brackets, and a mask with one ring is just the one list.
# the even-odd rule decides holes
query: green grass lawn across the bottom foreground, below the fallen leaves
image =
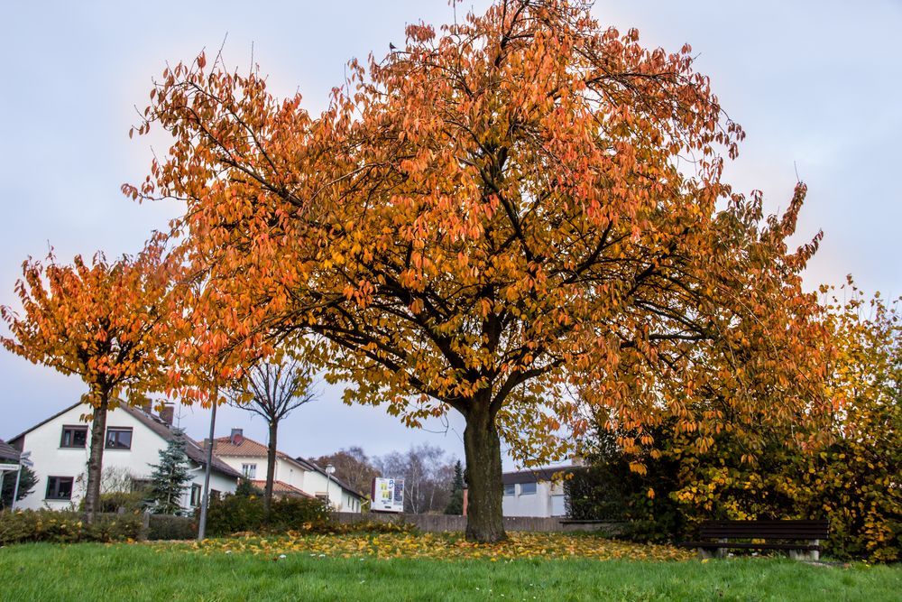
{"label": "green grass lawn across the bottom foreground, below the fallen leaves", "polygon": [[185,544],[0,548],[0,600],[898,600],[902,567],[782,559],[342,558]]}

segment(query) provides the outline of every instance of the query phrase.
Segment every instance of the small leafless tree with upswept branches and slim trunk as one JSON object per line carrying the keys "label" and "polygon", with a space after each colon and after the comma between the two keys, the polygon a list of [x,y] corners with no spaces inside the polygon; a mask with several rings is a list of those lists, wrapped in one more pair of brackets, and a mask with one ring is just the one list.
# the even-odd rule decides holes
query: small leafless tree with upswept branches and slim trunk
{"label": "small leafless tree with upswept branches and slim trunk", "polygon": [[241,385],[226,394],[230,404],[262,416],[270,427],[266,487],[263,490],[263,511],[267,517],[272,505],[279,422],[292,410],[316,398],[316,393],[310,388],[311,383],[308,366],[299,359],[283,357],[281,361],[253,366]]}

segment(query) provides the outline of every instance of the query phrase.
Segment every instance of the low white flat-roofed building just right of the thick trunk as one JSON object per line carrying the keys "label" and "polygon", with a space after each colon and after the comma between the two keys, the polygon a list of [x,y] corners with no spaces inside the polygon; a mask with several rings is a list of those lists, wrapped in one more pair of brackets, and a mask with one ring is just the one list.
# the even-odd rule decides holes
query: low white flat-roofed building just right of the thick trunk
{"label": "low white flat-roofed building just right of the thick trunk", "polygon": [[567,465],[504,473],[502,513],[505,516],[564,516],[564,484],[559,479],[554,481],[553,476],[572,468]]}

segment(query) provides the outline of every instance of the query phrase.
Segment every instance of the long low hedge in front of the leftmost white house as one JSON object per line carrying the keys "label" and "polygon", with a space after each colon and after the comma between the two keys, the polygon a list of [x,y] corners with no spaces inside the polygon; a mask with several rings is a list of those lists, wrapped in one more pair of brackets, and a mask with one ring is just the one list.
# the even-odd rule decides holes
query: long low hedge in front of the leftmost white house
{"label": "long low hedge in front of the leftmost white house", "polygon": [[23,542],[124,542],[141,536],[141,514],[98,514],[87,523],[84,514],[52,510],[0,512],[0,545]]}

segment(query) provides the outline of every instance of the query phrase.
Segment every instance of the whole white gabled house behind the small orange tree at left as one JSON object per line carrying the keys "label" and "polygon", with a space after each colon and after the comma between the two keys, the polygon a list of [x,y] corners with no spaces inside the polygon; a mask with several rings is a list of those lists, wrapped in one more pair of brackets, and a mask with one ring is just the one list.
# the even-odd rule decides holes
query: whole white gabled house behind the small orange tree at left
{"label": "whole white gabled house behind the small orange tree at left", "polygon": [[[9,443],[20,451],[30,451],[38,484],[32,493],[16,504],[19,508],[54,510],[77,507],[85,493],[90,425],[81,420],[86,412],[82,403],[70,405]],[[151,476],[152,464],[160,462],[160,450],[176,436],[172,429],[171,406],[154,415],[150,406],[122,406],[106,414],[104,470],[108,474],[120,468],[139,485]],[[200,504],[207,458],[194,440],[185,437],[185,451],[191,464],[191,481],[182,507]],[[232,493],[241,475],[214,456],[210,471],[211,495]]]}

